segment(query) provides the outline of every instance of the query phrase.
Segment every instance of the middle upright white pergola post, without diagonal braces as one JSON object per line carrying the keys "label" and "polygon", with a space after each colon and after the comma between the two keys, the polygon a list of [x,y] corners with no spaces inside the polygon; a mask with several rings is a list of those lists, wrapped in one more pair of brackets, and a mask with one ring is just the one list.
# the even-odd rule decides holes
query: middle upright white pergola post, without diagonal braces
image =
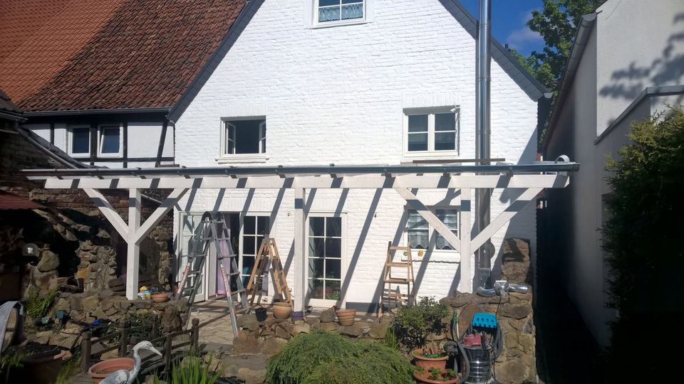
{"label": "middle upright white pergola post, without diagonal braces", "polygon": [[304,255],[304,238],[306,236],[306,216],[304,213],[304,201],[306,191],[304,188],[294,190],[294,310],[304,311],[304,299],[306,299],[306,255]]}

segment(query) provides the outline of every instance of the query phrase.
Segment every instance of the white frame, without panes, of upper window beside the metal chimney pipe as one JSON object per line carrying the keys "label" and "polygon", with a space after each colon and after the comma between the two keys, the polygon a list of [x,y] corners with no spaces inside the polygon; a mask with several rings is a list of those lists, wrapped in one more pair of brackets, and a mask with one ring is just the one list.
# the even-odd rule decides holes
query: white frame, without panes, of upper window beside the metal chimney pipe
{"label": "white frame, without panes, of upper window beside the metal chimney pipe", "polygon": [[[435,114],[455,114],[454,149],[448,151],[435,150],[435,133],[450,131],[435,131]],[[408,117],[417,114],[427,114],[427,151],[408,150]],[[403,110],[403,157],[408,160],[415,159],[453,159],[458,156],[458,138],[460,134],[460,109],[451,105],[447,107],[429,108],[405,108]]]}

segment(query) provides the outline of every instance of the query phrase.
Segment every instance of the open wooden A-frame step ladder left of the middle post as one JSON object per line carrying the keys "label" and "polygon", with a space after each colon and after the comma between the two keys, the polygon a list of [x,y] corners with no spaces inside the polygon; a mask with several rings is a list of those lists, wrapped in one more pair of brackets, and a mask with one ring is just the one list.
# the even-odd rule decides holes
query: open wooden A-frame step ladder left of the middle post
{"label": "open wooden A-frame step ladder left of the middle post", "polygon": [[285,271],[283,270],[283,264],[280,260],[280,253],[278,252],[276,240],[274,238],[266,237],[261,241],[257,257],[254,260],[252,274],[249,275],[249,281],[247,282],[247,294],[251,294],[249,306],[254,306],[254,298],[257,297],[257,294],[259,294],[257,304],[261,301],[261,276],[264,275],[266,267],[270,268],[271,279],[276,288],[276,293],[279,294],[286,303],[292,304],[292,297],[290,289],[287,287],[287,279],[285,277]]}

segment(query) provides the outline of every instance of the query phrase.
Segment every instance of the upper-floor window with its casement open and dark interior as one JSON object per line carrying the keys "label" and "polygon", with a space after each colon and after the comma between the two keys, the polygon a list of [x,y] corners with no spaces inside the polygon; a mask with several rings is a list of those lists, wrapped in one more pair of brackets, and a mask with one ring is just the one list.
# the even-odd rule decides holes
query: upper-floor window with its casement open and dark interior
{"label": "upper-floor window with its casement open and dark interior", "polygon": [[222,156],[266,153],[266,119],[229,119],[223,122]]}

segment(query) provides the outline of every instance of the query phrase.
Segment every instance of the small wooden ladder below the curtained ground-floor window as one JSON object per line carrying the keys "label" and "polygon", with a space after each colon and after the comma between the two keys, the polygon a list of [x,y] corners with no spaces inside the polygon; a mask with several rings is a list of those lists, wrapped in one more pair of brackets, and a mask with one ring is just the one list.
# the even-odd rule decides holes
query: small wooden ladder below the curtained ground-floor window
{"label": "small wooden ladder below the curtained ground-floor window", "polygon": [[[393,253],[405,252],[406,261],[393,261]],[[401,257],[400,259],[401,260]],[[392,268],[403,268],[405,272],[402,273],[402,277],[393,277]],[[383,314],[383,309],[385,304],[387,305],[387,310],[392,308],[392,304],[399,306],[399,304],[411,305],[415,301],[413,295],[413,259],[411,257],[411,247],[400,247],[392,245],[392,242],[388,242],[387,245],[387,260],[385,260],[385,274],[383,275],[385,282],[385,289],[380,294],[380,308],[378,308],[378,316]],[[406,292],[402,293],[400,287],[405,285]]]}

